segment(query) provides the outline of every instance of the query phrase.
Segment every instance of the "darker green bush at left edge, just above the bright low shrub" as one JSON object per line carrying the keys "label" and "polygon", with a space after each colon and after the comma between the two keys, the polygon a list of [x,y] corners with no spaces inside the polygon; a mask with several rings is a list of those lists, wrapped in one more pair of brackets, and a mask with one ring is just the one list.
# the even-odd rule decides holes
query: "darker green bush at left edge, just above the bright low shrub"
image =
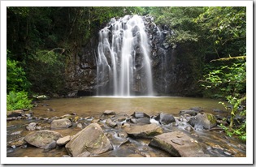
{"label": "darker green bush at left edge, just above the bright low shrub", "polygon": [[28,91],[30,85],[19,62],[7,57],[7,92]]}

